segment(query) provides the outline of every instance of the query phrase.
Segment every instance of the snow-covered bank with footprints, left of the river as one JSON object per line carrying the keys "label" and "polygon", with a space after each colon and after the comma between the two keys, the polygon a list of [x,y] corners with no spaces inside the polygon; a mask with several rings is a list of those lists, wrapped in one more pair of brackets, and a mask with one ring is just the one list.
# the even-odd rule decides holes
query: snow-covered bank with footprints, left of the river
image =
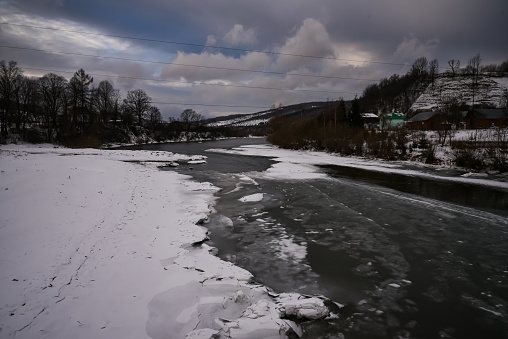
{"label": "snow-covered bank with footprints, left of the river", "polygon": [[326,316],[202,243],[216,188],[157,169],[202,160],[1,146],[0,337],[283,338],[284,315]]}

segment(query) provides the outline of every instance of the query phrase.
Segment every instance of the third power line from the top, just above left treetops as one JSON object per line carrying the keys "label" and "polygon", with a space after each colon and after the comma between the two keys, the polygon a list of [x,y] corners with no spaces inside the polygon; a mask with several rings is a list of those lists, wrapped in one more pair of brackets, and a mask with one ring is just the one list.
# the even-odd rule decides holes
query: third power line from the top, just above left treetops
{"label": "third power line from the top, just above left treetops", "polygon": [[[46,68],[35,68],[35,67],[22,67],[23,69],[33,70],[33,71],[43,71],[43,72],[51,72],[51,73],[68,73],[74,74],[75,71],[64,71],[64,70],[55,70],[55,69],[46,69]],[[353,92],[346,91],[324,91],[324,90],[311,90],[311,89],[289,89],[289,88],[279,88],[279,87],[264,87],[264,86],[247,86],[247,85],[233,85],[233,84],[220,84],[220,83],[199,83],[199,82],[191,82],[191,81],[183,81],[183,80],[165,80],[165,79],[154,79],[154,78],[140,78],[140,77],[132,77],[125,75],[113,75],[113,74],[100,74],[100,73],[87,73],[92,76],[98,77],[113,77],[120,79],[129,79],[129,80],[142,80],[142,81],[156,81],[156,82],[166,82],[166,83],[178,83],[178,84],[189,84],[195,86],[220,86],[220,87],[233,87],[233,88],[246,88],[246,89],[264,89],[264,90],[278,90],[278,91],[288,91],[288,92],[311,92],[311,93],[330,93],[330,94],[356,94]]]}

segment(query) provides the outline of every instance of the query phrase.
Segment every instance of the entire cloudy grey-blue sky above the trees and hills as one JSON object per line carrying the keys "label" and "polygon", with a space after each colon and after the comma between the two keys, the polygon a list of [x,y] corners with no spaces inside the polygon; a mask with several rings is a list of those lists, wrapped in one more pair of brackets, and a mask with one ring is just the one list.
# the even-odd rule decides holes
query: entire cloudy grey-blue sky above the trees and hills
{"label": "entire cloudy grey-blue sky above the trees and hills", "polygon": [[0,60],[143,89],[165,118],[352,99],[421,56],[508,59],[507,0],[0,0],[0,22]]}

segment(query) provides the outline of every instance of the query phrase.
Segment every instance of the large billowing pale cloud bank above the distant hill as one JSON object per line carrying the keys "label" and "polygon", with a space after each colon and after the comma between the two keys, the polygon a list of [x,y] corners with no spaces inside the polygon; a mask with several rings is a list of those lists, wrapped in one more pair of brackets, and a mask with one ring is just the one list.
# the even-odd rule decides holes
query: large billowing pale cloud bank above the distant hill
{"label": "large billowing pale cloud bank above the distant hill", "polygon": [[[196,102],[269,108],[273,103],[278,102],[289,105],[327,98],[350,98],[354,94],[360,95],[369,82],[344,78],[372,79],[374,77],[378,79],[383,76],[370,63],[335,60],[334,58],[337,58],[339,54],[343,58],[367,61],[374,56],[363,50],[361,45],[334,42],[324,25],[315,19],[304,20],[293,35],[286,38],[284,44],[273,51],[313,55],[317,58],[274,56],[270,53],[257,52],[234,57],[207,50],[199,54],[180,51],[173,65],[164,67],[161,78],[168,80],[183,78],[195,85],[187,87],[185,93],[172,92],[168,86],[167,98],[169,100],[170,97],[178,95],[180,100],[185,96],[189,98],[188,100]],[[206,68],[195,66],[206,66]],[[267,72],[231,71],[224,68]],[[247,109],[247,111],[255,111],[255,109]],[[220,115],[219,112],[214,114]]]}

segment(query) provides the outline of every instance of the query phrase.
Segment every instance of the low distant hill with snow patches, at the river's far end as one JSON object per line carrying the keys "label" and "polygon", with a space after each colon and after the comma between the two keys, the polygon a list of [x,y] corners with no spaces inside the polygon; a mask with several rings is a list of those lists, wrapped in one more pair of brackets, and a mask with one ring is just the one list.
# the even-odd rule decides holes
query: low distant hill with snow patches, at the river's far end
{"label": "low distant hill with snow patches, at the river's far end", "polygon": [[[333,101],[306,102],[301,104],[273,108],[266,111],[247,114],[233,114],[223,117],[212,118],[204,121],[208,127],[230,127],[230,128],[262,128],[274,116],[317,116],[323,109]],[[346,102],[346,106],[349,102]]]}

